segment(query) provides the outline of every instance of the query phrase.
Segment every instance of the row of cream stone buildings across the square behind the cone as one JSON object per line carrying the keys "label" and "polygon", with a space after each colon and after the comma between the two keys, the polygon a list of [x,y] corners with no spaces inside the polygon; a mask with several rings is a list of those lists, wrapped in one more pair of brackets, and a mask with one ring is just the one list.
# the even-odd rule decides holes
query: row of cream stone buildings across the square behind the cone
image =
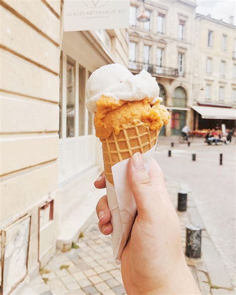
{"label": "row of cream stone buildings across the square behind the cone", "polygon": [[[210,15],[196,14],[195,0],[130,3],[129,69],[133,73],[146,69],[157,79],[160,96],[171,115],[161,134],[178,135],[185,124],[191,129],[213,128],[222,123],[232,128],[234,110],[222,109],[218,121],[201,121],[204,124],[199,126],[201,114],[196,115],[193,108],[202,103],[235,107],[236,27]],[[137,20],[143,10],[150,21]]]}

